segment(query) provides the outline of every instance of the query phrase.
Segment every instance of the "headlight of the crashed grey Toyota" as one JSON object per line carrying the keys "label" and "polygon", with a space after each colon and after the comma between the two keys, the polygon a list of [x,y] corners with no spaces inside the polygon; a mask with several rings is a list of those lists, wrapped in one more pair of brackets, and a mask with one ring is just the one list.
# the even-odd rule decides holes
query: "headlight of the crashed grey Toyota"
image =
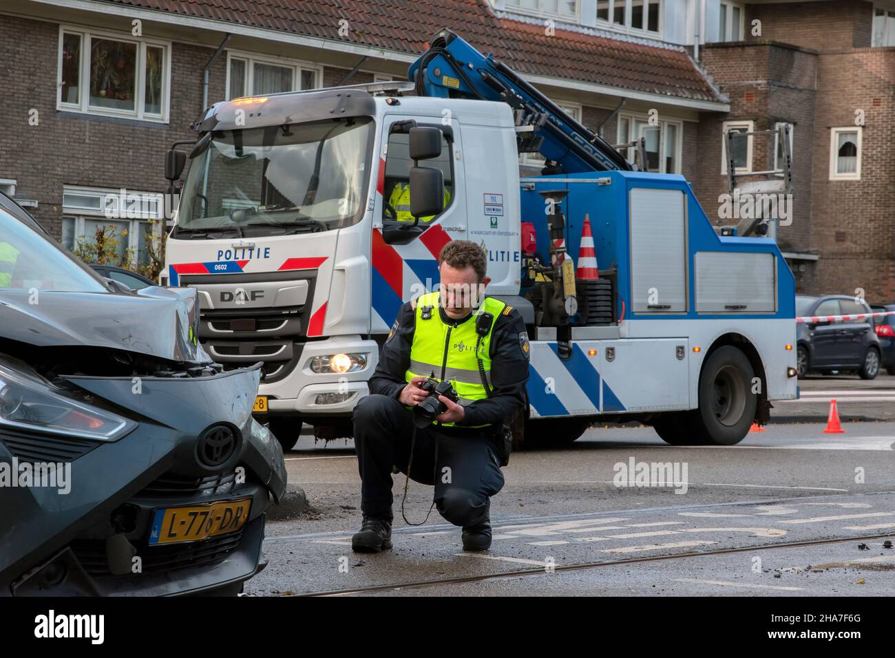
{"label": "headlight of the crashed grey Toyota", "polygon": [[46,384],[0,370],[0,427],[114,441],[137,423],[55,393]]}

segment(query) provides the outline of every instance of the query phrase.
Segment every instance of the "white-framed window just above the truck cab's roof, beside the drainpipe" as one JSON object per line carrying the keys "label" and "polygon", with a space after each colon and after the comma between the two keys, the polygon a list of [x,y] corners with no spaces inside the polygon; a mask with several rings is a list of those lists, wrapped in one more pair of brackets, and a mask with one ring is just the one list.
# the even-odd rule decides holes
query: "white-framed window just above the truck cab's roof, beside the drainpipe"
{"label": "white-framed window just above the truck cab's roof, beside the drainpipe", "polygon": [[227,54],[227,99],[317,89],[320,67]]}

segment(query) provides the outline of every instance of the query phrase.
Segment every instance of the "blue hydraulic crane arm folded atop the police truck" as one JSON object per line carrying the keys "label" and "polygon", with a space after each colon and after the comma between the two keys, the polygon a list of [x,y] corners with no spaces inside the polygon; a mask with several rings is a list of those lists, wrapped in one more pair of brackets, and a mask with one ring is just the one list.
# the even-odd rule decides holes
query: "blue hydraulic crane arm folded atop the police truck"
{"label": "blue hydraulic crane arm folded atop the police truck", "polygon": [[599,135],[575,121],[550,98],[519,77],[494,56],[483,56],[451,30],[440,30],[407,71],[419,96],[504,101],[514,110],[520,152],[538,152],[573,174],[610,169],[631,170],[631,164]]}

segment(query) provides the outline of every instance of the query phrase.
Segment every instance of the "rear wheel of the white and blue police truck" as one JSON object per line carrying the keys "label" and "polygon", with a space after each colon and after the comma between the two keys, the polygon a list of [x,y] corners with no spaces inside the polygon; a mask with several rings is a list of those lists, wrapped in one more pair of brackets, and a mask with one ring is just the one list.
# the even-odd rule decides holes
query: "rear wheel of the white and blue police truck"
{"label": "rear wheel of the white and blue police truck", "polygon": [[733,346],[719,347],[699,375],[699,408],[692,429],[707,445],[732,446],[746,437],[758,398],[752,393],[752,364]]}

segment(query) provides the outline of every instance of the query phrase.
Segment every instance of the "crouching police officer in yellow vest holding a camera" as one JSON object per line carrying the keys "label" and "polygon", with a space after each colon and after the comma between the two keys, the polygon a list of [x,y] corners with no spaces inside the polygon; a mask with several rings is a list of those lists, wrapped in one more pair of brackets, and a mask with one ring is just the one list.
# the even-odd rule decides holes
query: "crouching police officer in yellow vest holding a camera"
{"label": "crouching police officer in yellow vest holding a camera", "polygon": [[[369,382],[371,395],[354,408],[363,513],[354,551],[391,548],[392,474],[398,471],[435,485],[433,505],[463,527],[465,551],[490,547],[490,497],[504,484],[504,426],[527,404],[529,345],[519,312],[480,295],[490,281],[485,259],[467,240],[444,246],[439,292],[401,307]],[[457,402],[439,395],[446,409],[427,423],[432,417],[421,412],[434,402],[427,388],[442,381]]]}

